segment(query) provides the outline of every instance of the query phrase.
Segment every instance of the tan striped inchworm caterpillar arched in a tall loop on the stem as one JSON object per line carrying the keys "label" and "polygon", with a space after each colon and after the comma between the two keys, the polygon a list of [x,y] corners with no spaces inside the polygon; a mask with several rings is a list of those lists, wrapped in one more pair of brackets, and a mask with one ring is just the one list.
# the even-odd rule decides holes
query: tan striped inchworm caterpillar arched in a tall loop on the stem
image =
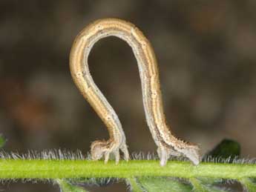
{"label": "tan striped inchworm caterpillar arched in a tall loop on the stem", "polygon": [[125,133],[118,116],[93,82],[88,67],[88,55],[93,44],[107,36],[116,36],[127,42],[137,59],[146,121],[158,147],[160,165],[165,165],[171,155],[186,156],[194,165],[197,165],[200,162],[197,145],[177,139],[165,122],[157,59],[150,42],[134,24],[121,19],[99,19],[89,24],[76,36],[70,52],[70,71],[73,81],[105,123],[110,134],[108,141],[92,143],[92,158],[100,159],[105,156],[105,162],[108,162],[109,154],[114,153],[117,163],[119,149],[124,153],[124,159],[129,158]]}

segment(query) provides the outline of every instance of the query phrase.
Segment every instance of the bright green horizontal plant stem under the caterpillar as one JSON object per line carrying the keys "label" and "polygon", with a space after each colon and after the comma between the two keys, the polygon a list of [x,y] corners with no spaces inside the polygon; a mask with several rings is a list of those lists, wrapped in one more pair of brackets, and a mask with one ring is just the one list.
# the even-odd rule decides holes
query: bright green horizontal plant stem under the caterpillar
{"label": "bright green horizontal plant stem under the caterpillar", "polygon": [[57,179],[81,177],[177,176],[242,179],[256,177],[256,165],[202,162],[168,162],[160,167],[156,160],[110,161],[0,159],[0,179]]}

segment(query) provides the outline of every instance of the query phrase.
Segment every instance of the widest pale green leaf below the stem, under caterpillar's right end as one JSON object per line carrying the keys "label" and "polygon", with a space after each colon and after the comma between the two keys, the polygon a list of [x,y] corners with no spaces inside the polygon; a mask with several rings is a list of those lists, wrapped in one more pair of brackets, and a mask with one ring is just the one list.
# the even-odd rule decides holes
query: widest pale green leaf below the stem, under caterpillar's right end
{"label": "widest pale green leaf below the stem, under caterpillar's right end", "polygon": [[188,192],[192,190],[191,185],[168,177],[140,177],[137,180],[147,192]]}

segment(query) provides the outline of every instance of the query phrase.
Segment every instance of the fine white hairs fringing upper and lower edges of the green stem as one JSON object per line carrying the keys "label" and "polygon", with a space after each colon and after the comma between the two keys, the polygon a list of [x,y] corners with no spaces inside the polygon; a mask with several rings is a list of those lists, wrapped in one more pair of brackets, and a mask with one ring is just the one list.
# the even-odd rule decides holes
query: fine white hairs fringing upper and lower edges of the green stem
{"label": "fine white hairs fringing upper and lower edges of the green stem", "polygon": [[[43,150],[41,152],[36,151],[36,150],[27,150],[27,153],[18,153],[18,152],[7,152],[5,150],[0,150],[0,159],[13,159],[15,160],[32,160],[32,159],[45,159],[45,160],[89,160],[91,159],[91,156],[89,153],[82,153],[81,150],[65,150],[65,149],[53,149],[53,150]],[[148,153],[132,153],[131,159],[133,160],[158,160],[157,154],[154,152],[148,152]],[[179,156],[175,157],[173,160],[186,160],[188,161],[185,157]],[[249,159],[249,158],[243,158],[243,159],[238,159],[238,157],[235,157],[234,159],[232,157],[223,159],[221,157],[212,157],[212,156],[206,156],[203,159],[203,162],[214,162],[214,163],[233,163],[233,164],[255,164],[256,159]],[[146,176],[149,178],[149,176]],[[136,177],[134,177],[136,180]],[[181,178],[183,179],[183,178]],[[185,179],[186,181],[187,179]],[[45,182],[45,183],[53,183],[57,184],[58,181],[54,179],[0,179],[1,183],[8,184],[10,182]],[[77,178],[77,179],[65,179],[65,181],[69,182],[71,185],[83,185],[83,186],[90,186],[90,185],[97,185],[97,186],[106,186],[106,185],[111,185],[112,183],[115,182],[123,182],[124,179],[122,178]],[[180,181],[180,178],[179,178]],[[128,182],[128,180],[127,180]],[[139,181],[140,182],[140,181]],[[189,182],[189,180],[188,180]],[[214,182],[220,183],[220,188],[223,189],[222,185],[227,184],[227,185],[233,185],[234,183],[239,182],[234,180],[234,179],[221,179],[221,178],[216,178],[214,179]],[[242,182],[243,185],[243,182]]]}

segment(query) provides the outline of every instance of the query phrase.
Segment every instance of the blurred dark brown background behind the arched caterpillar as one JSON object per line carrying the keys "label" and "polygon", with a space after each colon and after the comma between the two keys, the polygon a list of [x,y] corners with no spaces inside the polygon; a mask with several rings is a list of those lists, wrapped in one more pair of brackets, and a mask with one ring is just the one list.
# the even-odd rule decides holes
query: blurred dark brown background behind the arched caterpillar
{"label": "blurred dark brown background behind the arched caterpillar", "polygon": [[[223,138],[256,156],[256,1],[0,1],[0,133],[4,149],[86,153],[108,132],[70,76],[73,39],[91,21],[133,22],[154,47],[168,123],[203,153]],[[122,122],[130,153],[155,151],[137,62],[128,44],[102,39],[89,56],[96,84]],[[59,191],[10,183],[5,191]],[[91,191],[126,191],[119,183]]]}

